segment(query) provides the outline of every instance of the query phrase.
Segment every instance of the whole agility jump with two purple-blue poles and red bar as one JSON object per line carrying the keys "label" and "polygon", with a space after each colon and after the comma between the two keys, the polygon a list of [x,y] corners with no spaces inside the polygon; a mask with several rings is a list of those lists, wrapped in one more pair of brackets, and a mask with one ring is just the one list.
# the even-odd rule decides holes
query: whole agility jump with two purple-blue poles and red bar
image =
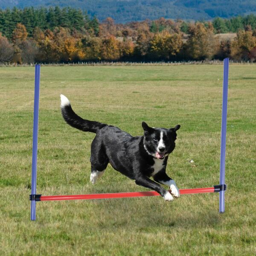
{"label": "whole agility jump with two purple-blue poles and red bar", "polygon": [[[226,155],[226,133],[227,133],[227,91],[228,91],[229,58],[224,59],[223,97],[222,97],[222,119],[221,119],[221,159],[220,159],[220,184],[209,188],[180,189],[180,194],[198,194],[219,192],[219,212],[225,211],[225,155]],[[120,192],[88,195],[51,195],[42,196],[36,194],[37,180],[37,152],[38,152],[38,118],[39,118],[39,87],[40,87],[40,65],[35,65],[35,98],[34,98],[34,122],[33,122],[33,148],[32,148],[32,184],[31,195],[31,220],[36,219],[37,201],[60,201],[60,200],[92,200],[111,198],[133,198],[145,196],[160,196],[156,191],[145,192]],[[170,192],[170,191],[169,191]]]}

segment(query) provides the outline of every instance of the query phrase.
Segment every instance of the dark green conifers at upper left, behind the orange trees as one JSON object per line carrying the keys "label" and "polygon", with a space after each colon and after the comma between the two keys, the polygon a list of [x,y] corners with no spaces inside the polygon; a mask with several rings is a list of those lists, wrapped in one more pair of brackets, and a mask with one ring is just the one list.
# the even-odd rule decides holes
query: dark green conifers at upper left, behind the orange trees
{"label": "dark green conifers at upper left, behind the orange trees", "polygon": [[96,17],[89,18],[87,13],[73,8],[39,8],[27,7],[24,9],[0,9],[0,32],[11,39],[12,33],[17,25],[21,23],[26,27],[29,36],[33,35],[36,27],[46,30],[53,30],[55,27],[64,27],[85,31],[93,29],[97,35],[99,22]]}

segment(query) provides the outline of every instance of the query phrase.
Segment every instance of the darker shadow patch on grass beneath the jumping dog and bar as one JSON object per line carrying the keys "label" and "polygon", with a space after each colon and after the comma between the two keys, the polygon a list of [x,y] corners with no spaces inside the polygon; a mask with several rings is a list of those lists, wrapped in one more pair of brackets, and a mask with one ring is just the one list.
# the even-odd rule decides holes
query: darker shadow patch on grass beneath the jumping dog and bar
{"label": "darker shadow patch on grass beneath the jumping dog and bar", "polygon": [[[94,225],[101,229],[118,229],[133,227],[137,231],[159,229],[186,229],[216,227],[221,221],[217,210],[201,209],[199,206],[166,203],[156,198],[124,199],[121,202],[95,202],[96,212],[101,212]],[[134,200],[133,202],[131,200]]]}

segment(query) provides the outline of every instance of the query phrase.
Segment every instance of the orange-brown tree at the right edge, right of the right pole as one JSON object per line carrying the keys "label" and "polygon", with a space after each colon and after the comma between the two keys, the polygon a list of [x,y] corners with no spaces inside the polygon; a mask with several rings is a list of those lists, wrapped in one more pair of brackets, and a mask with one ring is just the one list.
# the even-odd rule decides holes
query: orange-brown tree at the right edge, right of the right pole
{"label": "orange-brown tree at the right edge, right of the right pole", "polygon": [[231,57],[236,60],[248,60],[249,53],[256,47],[256,37],[252,31],[240,30],[231,45]]}

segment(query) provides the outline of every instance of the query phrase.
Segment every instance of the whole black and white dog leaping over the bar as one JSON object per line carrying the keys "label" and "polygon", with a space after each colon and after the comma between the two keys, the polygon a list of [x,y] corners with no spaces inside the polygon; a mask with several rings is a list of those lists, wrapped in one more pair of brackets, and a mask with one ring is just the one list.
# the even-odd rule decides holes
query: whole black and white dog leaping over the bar
{"label": "whole black and white dog leaping over the bar", "polygon": [[[95,184],[108,165],[123,175],[135,180],[136,184],[157,191],[166,201],[180,196],[174,180],[166,175],[169,154],[175,148],[175,128],[151,128],[142,122],[144,136],[131,134],[112,125],[82,119],[71,108],[66,96],[61,94],[61,113],[64,120],[74,128],[96,134],[91,144],[90,181]],[[156,181],[151,180],[153,177]],[[168,185],[171,193],[160,184]]]}

